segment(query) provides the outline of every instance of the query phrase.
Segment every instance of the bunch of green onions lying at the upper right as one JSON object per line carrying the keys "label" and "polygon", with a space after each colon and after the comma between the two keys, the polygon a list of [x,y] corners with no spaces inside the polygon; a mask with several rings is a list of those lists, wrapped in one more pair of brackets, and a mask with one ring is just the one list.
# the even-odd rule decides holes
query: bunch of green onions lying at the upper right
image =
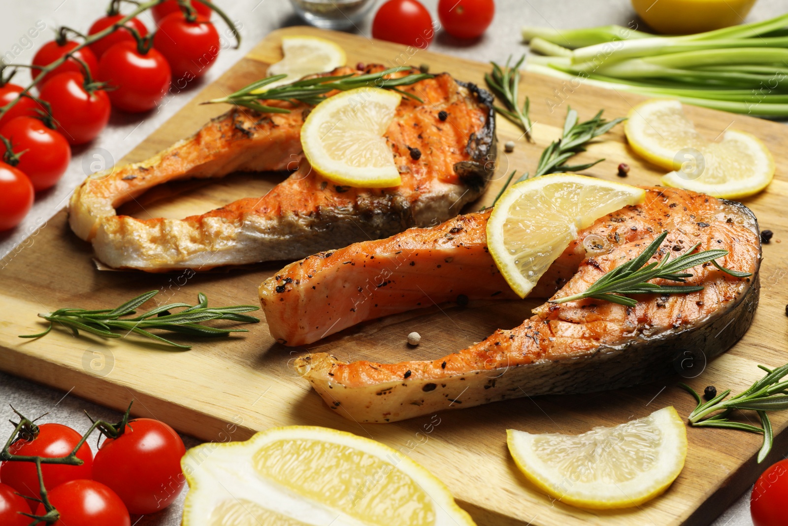
{"label": "bunch of green onions lying at the upper right", "polygon": [[716,110],[788,117],[788,14],[682,36],[621,26],[524,28],[526,71],[573,83],[673,97]]}

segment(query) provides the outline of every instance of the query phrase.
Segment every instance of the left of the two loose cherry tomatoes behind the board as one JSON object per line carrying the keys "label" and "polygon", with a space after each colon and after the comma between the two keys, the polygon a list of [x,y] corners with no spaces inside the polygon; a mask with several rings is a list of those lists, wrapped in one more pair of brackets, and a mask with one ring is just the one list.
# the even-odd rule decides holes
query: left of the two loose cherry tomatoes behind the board
{"label": "left of the two loose cherry tomatoes behind the board", "polygon": [[424,49],[434,35],[433,19],[417,0],[388,0],[372,22],[374,38],[406,46]]}

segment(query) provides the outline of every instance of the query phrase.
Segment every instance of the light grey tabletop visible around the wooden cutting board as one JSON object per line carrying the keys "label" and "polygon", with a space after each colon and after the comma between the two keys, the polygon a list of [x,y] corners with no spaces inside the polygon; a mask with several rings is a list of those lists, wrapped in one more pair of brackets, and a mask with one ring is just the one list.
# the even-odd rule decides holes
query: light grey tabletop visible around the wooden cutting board
{"label": "light grey tabletop visible around the wooden cutting board", "polygon": [[[379,0],[382,2],[383,0]],[[659,0],[657,0],[659,1]],[[260,39],[273,29],[285,25],[301,24],[293,13],[287,0],[216,0],[233,21],[240,25],[243,43],[240,50],[224,47],[216,64],[206,74],[201,83],[191,86],[177,95],[165,99],[158,110],[136,116],[113,115],[110,126],[92,144],[76,147],[68,173],[57,187],[37,196],[35,205],[25,221],[8,233],[0,233],[0,256],[5,256],[17,244],[24,241],[39,225],[46,222],[63,207],[72,189],[91,173],[91,163],[104,163],[111,166],[131,151],[140,141],[191,99],[199,87],[210,83],[243,57]],[[422,0],[433,17],[437,13],[437,0]],[[52,38],[52,30],[58,25],[86,31],[90,24],[102,16],[106,0],[24,0],[23,2],[4,2],[4,14],[0,17],[0,56],[13,62],[30,63],[35,50]],[[760,0],[746,21],[759,21],[775,17],[785,10],[784,0]],[[153,21],[146,13],[143,15],[149,28]],[[437,17],[436,17],[437,19]],[[496,17],[485,36],[473,43],[463,43],[452,36],[438,32],[430,50],[487,62],[505,61],[510,54],[522,54],[526,47],[520,42],[519,28],[524,25],[547,26],[554,28],[582,28],[604,24],[621,24],[637,21],[628,0],[496,0]],[[357,32],[370,34],[370,20],[359,24]],[[637,21],[642,24],[641,21]],[[35,38],[30,38],[28,30],[36,25],[46,24],[46,29]],[[221,24],[221,22],[219,22]],[[222,30],[223,31],[223,30]],[[14,82],[28,80],[27,73],[20,73]],[[173,142],[180,137],[173,137]],[[58,270],[52,269],[53,273]],[[2,356],[0,356],[2,360]],[[40,386],[35,382],[18,379],[0,373],[0,421],[5,422],[12,416],[9,404],[28,416],[39,416],[45,412],[46,420],[66,423],[78,431],[89,427],[82,410],[87,409],[93,416],[104,420],[117,420],[119,414],[108,408],[91,404],[73,397],[68,393]],[[11,428],[6,426],[6,431]],[[3,436],[0,433],[0,436]],[[198,441],[184,437],[186,446],[195,446]],[[185,493],[185,492],[184,492]],[[176,526],[180,524],[180,507],[184,494],[176,505],[169,509],[141,517],[136,526]],[[749,492],[720,516],[714,526],[750,526]]]}

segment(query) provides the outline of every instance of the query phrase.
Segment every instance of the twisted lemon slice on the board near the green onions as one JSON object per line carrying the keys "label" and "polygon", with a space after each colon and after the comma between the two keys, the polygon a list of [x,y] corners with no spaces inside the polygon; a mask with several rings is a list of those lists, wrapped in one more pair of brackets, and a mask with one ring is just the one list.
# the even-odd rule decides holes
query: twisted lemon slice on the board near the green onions
{"label": "twisted lemon slice on the board near the green onions", "polygon": [[734,199],[760,192],[775,175],[771,153],[755,136],[728,129],[719,142],[706,140],[677,100],[635,106],[624,131],[637,155],[674,170],[662,177],[666,186]]}

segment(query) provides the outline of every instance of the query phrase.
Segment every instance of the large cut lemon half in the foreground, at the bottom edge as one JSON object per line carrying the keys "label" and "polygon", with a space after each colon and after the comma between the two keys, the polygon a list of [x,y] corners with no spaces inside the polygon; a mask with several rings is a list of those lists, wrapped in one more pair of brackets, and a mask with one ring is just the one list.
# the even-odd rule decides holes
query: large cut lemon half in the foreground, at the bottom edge
{"label": "large cut lemon half in the foreground, at the bottom edge", "polygon": [[410,457],[351,433],[292,426],[206,443],[181,460],[183,526],[473,526]]}

